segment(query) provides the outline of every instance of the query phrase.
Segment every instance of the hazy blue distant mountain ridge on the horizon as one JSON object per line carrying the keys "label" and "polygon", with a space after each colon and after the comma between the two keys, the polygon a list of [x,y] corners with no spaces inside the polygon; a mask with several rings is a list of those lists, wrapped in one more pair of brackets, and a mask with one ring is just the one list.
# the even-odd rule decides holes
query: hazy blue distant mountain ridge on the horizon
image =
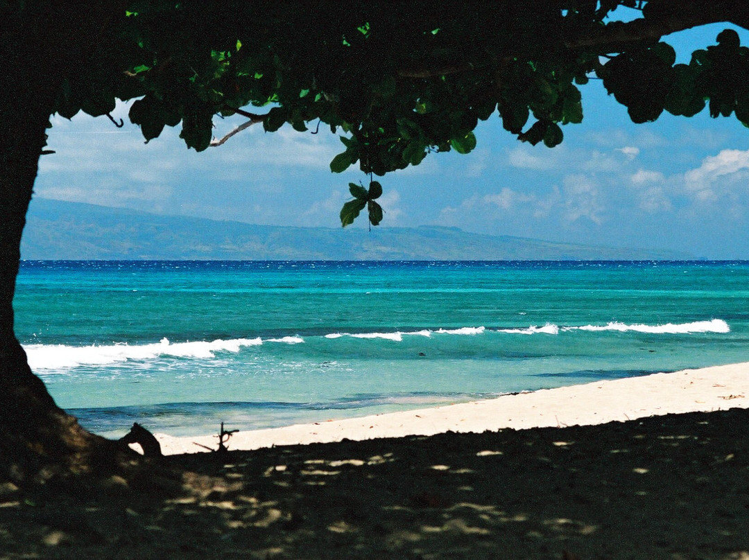
{"label": "hazy blue distant mountain ridge on the horizon", "polygon": [[504,261],[685,259],[458,228],[295,228],[251,225],[36,198],[21,243],[25,259],[226,261]]}

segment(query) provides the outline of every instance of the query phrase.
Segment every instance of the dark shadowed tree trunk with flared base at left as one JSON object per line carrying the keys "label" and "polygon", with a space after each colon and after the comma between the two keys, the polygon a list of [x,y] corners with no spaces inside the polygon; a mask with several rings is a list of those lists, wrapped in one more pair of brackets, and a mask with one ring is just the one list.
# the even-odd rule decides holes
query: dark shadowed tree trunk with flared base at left
{"label": "dark shadowed tree trunk with flared base at left", "polygon": [[0,478],[20,483],[85,471],[115,448],[57,407],[13,331],[21,234],[49,115],[112,15],[72,4],[29,1],[0,13]]}

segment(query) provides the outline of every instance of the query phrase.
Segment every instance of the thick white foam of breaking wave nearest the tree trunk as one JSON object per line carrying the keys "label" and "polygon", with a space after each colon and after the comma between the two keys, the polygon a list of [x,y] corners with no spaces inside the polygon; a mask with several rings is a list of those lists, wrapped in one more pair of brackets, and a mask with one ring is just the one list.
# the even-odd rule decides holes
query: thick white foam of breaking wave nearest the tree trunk
{"label": "thick white foam of breaking wave nearest the tree trunk", "polygon": [[177,342],[162,338],[157,344],[105,344],[66,346],[64,344],[29,344],[24,349],[33,370],[75,368],[79,365],[106,365],[129,359],[145,360],[159,356],[180,358],[213,358],[216,352],[239,352],[240,348],[263,344],[260,338],[236,338],[197,342]]}

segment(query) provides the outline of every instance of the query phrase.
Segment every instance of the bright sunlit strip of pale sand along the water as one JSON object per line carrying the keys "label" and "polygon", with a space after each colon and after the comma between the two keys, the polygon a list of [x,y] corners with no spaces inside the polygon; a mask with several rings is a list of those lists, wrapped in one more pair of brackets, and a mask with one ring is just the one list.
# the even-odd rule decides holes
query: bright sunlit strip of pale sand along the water
{"label": "bright sunlit strip of pale sand along the water", "polygon": [[[749,408],[749,362],[604,380],[503,395],[485,401],[449,404],[354,419],[294,424],[232,434],[230,451],[276,445],[306,445],[448,431],[482,433],[506,428],[605,424],[666,414]],[[166,455],[207,452],[217,435],[174,437],[155,433]],[[201,447],[201,446],[205,446]]]}

